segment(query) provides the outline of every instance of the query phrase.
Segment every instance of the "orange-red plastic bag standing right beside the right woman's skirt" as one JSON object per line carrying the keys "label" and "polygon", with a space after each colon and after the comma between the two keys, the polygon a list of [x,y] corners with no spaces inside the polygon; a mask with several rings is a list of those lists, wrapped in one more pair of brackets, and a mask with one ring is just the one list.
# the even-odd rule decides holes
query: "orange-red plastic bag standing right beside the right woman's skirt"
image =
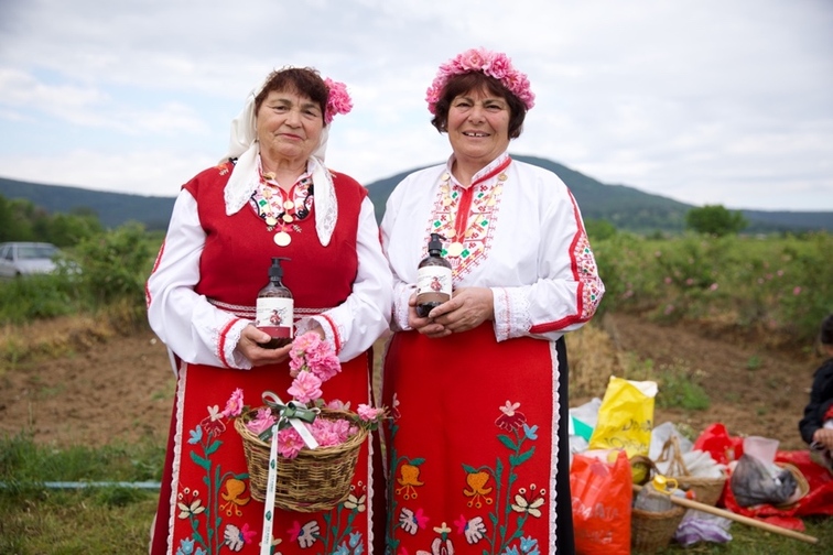
{"label": "orange-red plastic bag standing right beside the right woman's skirt", "polygon": [[610,454],[614,463],[573,455],[570,489],[578,555],[630,554],[630,464],[624,450]]}

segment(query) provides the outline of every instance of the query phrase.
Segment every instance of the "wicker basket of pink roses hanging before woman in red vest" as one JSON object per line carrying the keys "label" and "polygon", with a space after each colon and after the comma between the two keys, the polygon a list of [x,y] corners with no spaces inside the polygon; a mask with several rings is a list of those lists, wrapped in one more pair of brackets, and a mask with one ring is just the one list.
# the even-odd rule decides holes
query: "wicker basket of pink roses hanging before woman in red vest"
{"label": "wicker basket of pink roses hanging before woman in red vest", "polygon": [[[256,414],[257,409],[240,415],[235,421],[235,429],[242,437],[251,497],[262,502],[266,500],[269,479],[270,444],[246,427],[246,422]],[[323,409],[318,417],[351,420],[353,416],[355,414],[348,411]],[[279,456],[274,507],[298,512],[328,511],[347,499],[359,449],[368,434],[360,426],[358,429],[358,433],[340,445],[303,448],[293,459]]]}

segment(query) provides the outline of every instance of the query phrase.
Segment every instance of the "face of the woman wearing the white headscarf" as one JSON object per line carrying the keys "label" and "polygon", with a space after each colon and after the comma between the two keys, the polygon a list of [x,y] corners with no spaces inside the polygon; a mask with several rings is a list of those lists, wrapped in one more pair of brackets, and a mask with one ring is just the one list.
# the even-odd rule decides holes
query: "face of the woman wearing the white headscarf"
{"label": "face of the woman wearing the white headscarf", "polygon": [[264,170],[305,164],[321,142],[321,106],[296,91],[272,90],[257,113]]}

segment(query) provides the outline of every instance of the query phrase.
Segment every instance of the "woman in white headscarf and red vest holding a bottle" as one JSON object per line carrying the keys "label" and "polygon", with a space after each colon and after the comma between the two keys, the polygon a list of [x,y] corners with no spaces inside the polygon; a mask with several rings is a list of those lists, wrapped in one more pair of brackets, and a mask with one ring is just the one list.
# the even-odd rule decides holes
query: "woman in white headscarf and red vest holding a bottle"
{"label": "woman in white headscarf and red vest holding a bottle", "polygon": [[260,406],[264,391],[293,383],[292,346],[263,348],[270,336],[253,325],[272,257],[286,259],[295,335],[316,333],[340,361],[327,400],[371,403],[369,349],[389,327],[391,275],[367,191],[324,165],[329,123],[350,108],[345,86],[315,69],[271,73],[232,121],[227,155],[176,199],[147,285],[177,379],[154,555],[371,551],[378,449],[363,445],[335,509],[264,513],[230,421],[241,403]]}

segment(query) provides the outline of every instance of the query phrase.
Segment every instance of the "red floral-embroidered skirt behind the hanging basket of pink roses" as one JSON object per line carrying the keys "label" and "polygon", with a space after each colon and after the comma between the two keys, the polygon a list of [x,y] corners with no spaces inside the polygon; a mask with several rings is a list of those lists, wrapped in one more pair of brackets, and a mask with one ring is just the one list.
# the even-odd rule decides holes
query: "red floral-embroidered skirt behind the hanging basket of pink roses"
{"label": "red floral-embroidered skirt behind the hanging basket of pink roses", "polygon": [[[346,362],[323,385],[327,401],[370,403],[369,356]],[[291,378],[286,363],[252,370],[184,364],[180,370],[169,437],[152,554],[260,553],[263,503],[250,494],[240,436],[219,413],[231,392],[241,388],[244,402],[261,406],[271,390],[288,401]],[[370,553],[372,477],[370,442],[361,447],[349,498],[326,512],[274,510],[273,553]]]}

